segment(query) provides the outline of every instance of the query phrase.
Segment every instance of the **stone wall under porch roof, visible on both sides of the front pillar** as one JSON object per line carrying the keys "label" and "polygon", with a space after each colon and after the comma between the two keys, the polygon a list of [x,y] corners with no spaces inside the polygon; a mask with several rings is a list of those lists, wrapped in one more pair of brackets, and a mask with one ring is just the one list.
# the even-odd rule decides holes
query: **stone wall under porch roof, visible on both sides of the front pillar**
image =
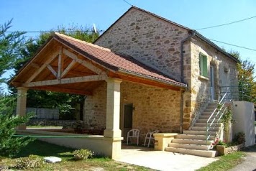
{"label": "stone wall under porch roof, visible on both sides of the front pillar", "polygon": [[[124,103],[132,103],[133,128],[141,134],[159,129],[161,132],[180,131],[180,92],[138,83],[121,83],[120,129],[123,127]],[[85,102],[84,123],[101,129],[106,126],[106,82],[93,91]],[[123,136],[126,137],[125,134]]]}

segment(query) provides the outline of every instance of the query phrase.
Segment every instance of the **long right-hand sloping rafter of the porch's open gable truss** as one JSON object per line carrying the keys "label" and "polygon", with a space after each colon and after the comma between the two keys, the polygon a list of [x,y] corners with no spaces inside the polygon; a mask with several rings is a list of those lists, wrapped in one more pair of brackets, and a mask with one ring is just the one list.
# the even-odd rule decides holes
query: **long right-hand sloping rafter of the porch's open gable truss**
{"label": "long right-hand sloping rafter of the porch's open gable truss", "polygon": [[73,52],[70,52],[66,49],[63,49],[63,53],[70,57],[71,59],[75,60],[77,63],[80,63],[81,65],[85,66],[89,70],[92,70],[93,72],[97,74],[102,74],[104,71],[100,70],[99,68],[96,68],[96,66],[92,65],[91,63],[86,62],[85,60],[81,60],[78,58],[77,55],[75,55]]}

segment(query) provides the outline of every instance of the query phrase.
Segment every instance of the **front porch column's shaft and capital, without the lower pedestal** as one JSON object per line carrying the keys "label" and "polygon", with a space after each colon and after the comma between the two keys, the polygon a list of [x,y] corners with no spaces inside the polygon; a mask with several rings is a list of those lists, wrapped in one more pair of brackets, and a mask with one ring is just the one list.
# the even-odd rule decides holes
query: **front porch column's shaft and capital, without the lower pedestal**
{"label": "front porch column's shaft and capital, without the lower pedestal", "polygon": [[104,137],[121,137],[120,121],[120,83],[122,80],[108,78],[106,80],[106,129]]}

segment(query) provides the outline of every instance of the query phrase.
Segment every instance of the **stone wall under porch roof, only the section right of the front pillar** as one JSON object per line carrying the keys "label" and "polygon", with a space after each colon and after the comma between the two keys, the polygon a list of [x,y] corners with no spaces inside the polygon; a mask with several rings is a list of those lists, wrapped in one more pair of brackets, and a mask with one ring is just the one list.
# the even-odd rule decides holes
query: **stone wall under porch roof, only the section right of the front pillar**
{"label": "stone wall under porch roof, only the section right of the front pillar", "polygon": [[141,134],[155,129],[160,132],[180,131],[179,91],[124,81],[121,83],[121,103],[133,104],[132,127],[140,129]]}

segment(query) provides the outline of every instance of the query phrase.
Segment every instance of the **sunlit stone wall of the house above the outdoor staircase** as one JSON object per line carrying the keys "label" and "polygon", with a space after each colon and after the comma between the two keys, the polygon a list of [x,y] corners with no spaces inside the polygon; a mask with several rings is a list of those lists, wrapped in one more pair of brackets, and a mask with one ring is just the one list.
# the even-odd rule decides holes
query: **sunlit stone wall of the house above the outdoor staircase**
{"label": "sunlit stone wall of the house above the outdoor staircase", "polygon": [[[199,68],[199,53],[207,56],[208,76],[202,77]],[[184,95],[184,128],[187,129],[195,118],[211,101],[210,66],[214,68],[214,96],[220,100],[221,86],[234,86],[237,83],[237,65],[222,52],[201,40],[191,41],[191,78],[188,77],[188,91]]]}

